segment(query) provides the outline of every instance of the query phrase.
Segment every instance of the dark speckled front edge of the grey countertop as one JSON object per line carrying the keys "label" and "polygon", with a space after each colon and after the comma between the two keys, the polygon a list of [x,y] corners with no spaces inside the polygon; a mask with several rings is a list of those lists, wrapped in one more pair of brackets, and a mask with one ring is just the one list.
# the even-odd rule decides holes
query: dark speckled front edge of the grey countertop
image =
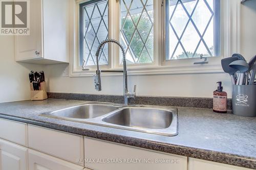
{"label": "dark speckled front edge of the grey countertop", "polygon": [[234,166],[256,169],[255,158],[245,157],[241,155],[233,155],[233,154],[228,154],[228,153],[223,153],[218,151],[192,148],[192,147],[187,147],[187,146],[177,145],[177,144],[160,143],[160,142],[150,141],[146,139],[127,137],[127,136],[105,133],[100,131],[93,131],[88,129],[76,128],[74,132],[74,128],[71,126],[67,126],[67,125],[56,126],[55,124],[50,124],[47,122],[39,122],[39,121],[34,121],[34,120],[25,119],[21,117],[5,115],[5,114],[0,114],[0,118],[14,120],[17,122],[27,123],[30,125],[40,126],[44,128],[62,131],[62,132],[68,132],[68,133],[73,133],[77,135],[92,137],[92,138],[101,139],[105,141],[131,145],[133,147],[138,147],[138,148],[143,148],[143,149],[148,149],[153,151],[159,151],[159,152],[164,152],[169,154],[181,155],[181,156],[197,158],[197,159],[202,159],[207,161],[213,161],[213,162],[224,163],[224,164],[229,164]]}

